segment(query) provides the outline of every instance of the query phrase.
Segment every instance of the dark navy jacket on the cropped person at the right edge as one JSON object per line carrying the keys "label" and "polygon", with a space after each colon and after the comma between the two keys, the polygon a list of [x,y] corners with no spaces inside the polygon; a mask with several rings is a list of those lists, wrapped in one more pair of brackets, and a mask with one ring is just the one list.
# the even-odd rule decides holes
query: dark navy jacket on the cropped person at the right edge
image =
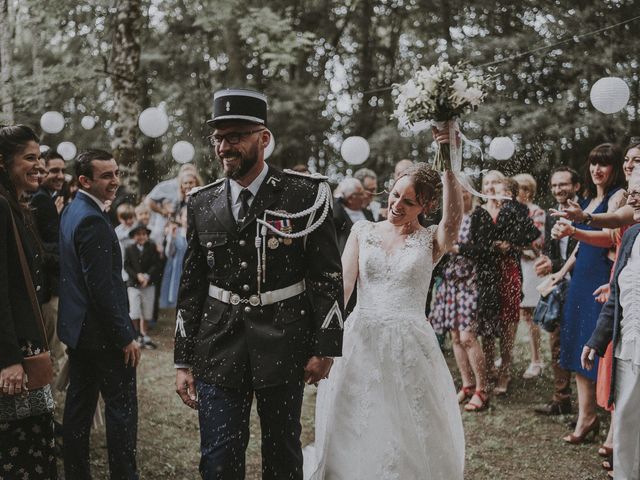
{"label": "dark navy jacket on the cropped person at the right edge", "polygon": [[[620,321],[624,315],[620,306],[620,286],[618,285],[618,277],[620,272],[627,265],[629,255],[636,237],[640,233],[640,224],[636,224],[629,228],[622,237],[622,244],[618,252],[618,259],[614,267],[613,277],[611,279],[611,293],[609,300],[604,304],[598,317],[598,324],[593,331],[591,338],[587,342],[587,346],[593,348],[598,355],[604,357],[609,342],[613,341],[614,349],[620,338]],[[609,404],[613,403],[613,394],[615,392],[616,378],[616,359],[613,359],[613,371],[611,372],[611,390],[609,391]]]}

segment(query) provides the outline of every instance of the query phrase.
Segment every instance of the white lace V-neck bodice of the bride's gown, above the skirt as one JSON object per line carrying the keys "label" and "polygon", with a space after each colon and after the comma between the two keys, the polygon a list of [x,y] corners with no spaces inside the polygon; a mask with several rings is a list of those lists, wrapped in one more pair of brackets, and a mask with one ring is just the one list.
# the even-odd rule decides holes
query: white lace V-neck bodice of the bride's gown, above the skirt
{"label": "white lace V-neck bodice of the bride's gown, above the skirt", "polygon": [[[389,254],[382,247],[376,224],[357,222],[352,232],[358,237],[358,308],[373,310],[383,320],[424,317],[427,292],[433,271],[433,235],[437,226],[421,228],[406,238],[404,245]],[[403,316],[398,316],[399,312]]]}

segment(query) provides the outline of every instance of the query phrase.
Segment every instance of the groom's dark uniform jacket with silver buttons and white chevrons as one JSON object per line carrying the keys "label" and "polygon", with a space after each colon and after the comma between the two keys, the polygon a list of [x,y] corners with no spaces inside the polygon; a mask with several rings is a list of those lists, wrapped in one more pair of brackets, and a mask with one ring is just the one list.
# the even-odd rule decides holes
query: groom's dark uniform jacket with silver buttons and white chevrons
{"label": "groom's dark uniform jacket with silver buttons and white chevrons", "polygon": [[[230,205],[229,180],[196,189],[187,207],[188,249],[178,295],[176,366],[191,367],[206,383],[263,388],[301,382],[313,355],[340,356],[343,286],[336,232],[328,209],[312,222],[322,224],[306,239],[278,241],[267,232],[260,254],[256,235],[265,210],[301,212],[314,204],[320,181],[282,172],[268,174],[248,210],[236,223]],[[280,229],[301,232],[309,215],[291,219]],[[277,246],[276,246],[277,244]],[[275,247],[275,248],[274,248]],[[261,292],[258,262],[264,271]],[[251,305],[251,296],[304,281],[306,291],[270,305]],[[240,303],[223,302],[211,288],[227,291]]]}

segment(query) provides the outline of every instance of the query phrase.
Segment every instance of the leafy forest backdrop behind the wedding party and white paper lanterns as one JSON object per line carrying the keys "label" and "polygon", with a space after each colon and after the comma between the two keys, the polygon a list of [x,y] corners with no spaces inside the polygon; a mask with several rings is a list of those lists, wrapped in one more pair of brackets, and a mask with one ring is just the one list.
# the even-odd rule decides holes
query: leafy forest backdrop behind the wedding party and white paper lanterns
{"label": "leafy forest backdrop behind the wedding party and white paper lanterns", "polygon": [[[42,113],[60,111],[64,130],[43,133],[43,144],[111,148],[129,189],[144,194],[175,174],[179,140],[215,178],[213,92],[253,88],[269,97],[271,162],[337,181],[352,168],[340,144],[360,135],[371,146],[363,166],[387,180],[398,160],[433,153],[429,132],[402,132],[391,118],[389,87],[421,65],[462,61],[495,78],[463,131],[485,152],[495,136],[516,142],[506,162],[469,150],[466,165],[544,184],[553,166],[584,172],[595,145],[640,135],[640,19],[605,29],[637,15],[633,0],[0,0],[0,123],[38,127]],[[605,76],[631,91],[614,115],[589,102]],[[137,127],[149,106],[169,116],[158,139]],[[92,130],[80,126],[85,115]]]}

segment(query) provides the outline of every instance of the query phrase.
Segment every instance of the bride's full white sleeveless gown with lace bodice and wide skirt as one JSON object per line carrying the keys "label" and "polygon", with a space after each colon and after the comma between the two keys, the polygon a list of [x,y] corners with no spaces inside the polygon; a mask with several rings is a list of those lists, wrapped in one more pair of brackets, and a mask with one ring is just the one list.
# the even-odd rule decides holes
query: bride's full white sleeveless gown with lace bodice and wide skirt
{"label": "bride's full white sleeveless gown with lace bodice and wide skirt", "polygon": [[455,387],[425,318],[436,227],[387,253],[360,221],[358,304],[316,402],[312,480],[461,480],[464,432]]}

